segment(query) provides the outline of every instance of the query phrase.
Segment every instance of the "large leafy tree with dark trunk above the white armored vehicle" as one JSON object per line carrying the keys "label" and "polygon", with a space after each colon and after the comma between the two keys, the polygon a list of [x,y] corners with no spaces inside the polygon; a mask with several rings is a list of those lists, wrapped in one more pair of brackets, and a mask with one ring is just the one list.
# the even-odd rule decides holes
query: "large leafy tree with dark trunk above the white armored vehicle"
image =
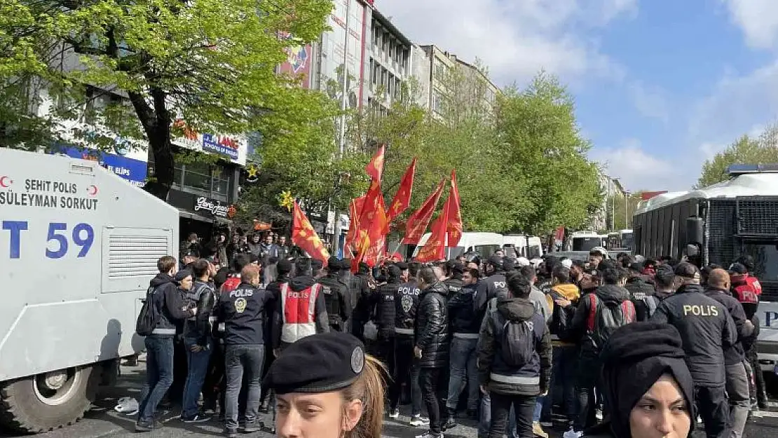
{"label": "large leafy tree with dark trunk above the white armored vehicle", "polygon": [[[2,21],[0,34],[10,30],[38,37],[11,42],[23,67],[9,70],[41,75],[53,89],[95,86],[98,93],[127,96],[129,106],[117,105],[110,112],[134,114],[131,121],[142,129],[155,163],[154,179],[145,187],[159,198],[166,198],[173,183],[171,138],[180,134],[174,121],[201,132],[260,131],[267,148],[300,147],[315,131],[300,128],[326,114],[319,93],[276,75],[275,66],[286,59],[285,35],[303,43],[319,37],[330,0],[44,0],[14,6],[25,19],[23,26],[19,30]],[[63,43],[65,58],[75,52],[79,63],[52,68],[51,52],[29,47],[40,40]],[[94,94],[84,93],[88,98]],[[113,117],[125,125],[127,120],[126,115]],[[131,131],[131,126],[124,128]]]}

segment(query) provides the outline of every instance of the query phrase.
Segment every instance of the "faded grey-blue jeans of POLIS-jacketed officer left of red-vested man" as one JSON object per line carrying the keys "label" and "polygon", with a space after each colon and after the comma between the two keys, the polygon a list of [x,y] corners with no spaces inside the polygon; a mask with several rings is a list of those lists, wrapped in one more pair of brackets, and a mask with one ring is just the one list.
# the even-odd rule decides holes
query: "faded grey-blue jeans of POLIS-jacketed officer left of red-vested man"
{"label": "faded grey-blue jeans of POLIS-jacketed officer left of red-vested man", "polygon": [[[246,426],[255,426],[261,395],[260,379],[265,364],[265,345],[226,345],[224,366],[226,369],[225,427],[237,429],[238,395],[246,377]],[[245,374],[245,376],[244,376]]]}

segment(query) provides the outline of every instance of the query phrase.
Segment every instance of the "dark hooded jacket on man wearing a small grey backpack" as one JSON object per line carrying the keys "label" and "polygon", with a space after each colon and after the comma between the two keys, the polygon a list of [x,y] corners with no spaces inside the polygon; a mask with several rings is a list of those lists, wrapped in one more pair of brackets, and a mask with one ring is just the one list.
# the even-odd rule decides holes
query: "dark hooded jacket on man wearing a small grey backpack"
{"label": "dark hooded jacket on man wearing a small grey backpack", "polygon": [[[507,322],[531,324],[534,353],[529,363],[517,368],[503,360],[502,331]],[[478,337],[478,380],[497,394],[538,395],[548,390],[551,379],[551,334],[534,304],[524,298],[496,299]]]}

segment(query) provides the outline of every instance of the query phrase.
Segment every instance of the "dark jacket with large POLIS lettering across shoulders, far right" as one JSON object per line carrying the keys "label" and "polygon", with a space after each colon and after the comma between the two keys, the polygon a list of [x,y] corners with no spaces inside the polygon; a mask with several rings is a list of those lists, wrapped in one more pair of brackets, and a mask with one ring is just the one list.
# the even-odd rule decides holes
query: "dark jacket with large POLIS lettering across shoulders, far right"
{"label": "dark jacket with large POLIS lettering across shoulders, far right", "polygon": [[662,301],[650,321],[674,325],[681,333],[686,363],[697,386],[724,385],[724,349],[734,345],[737,329],[727,309],[706,296],[703,286],[681,286]]}

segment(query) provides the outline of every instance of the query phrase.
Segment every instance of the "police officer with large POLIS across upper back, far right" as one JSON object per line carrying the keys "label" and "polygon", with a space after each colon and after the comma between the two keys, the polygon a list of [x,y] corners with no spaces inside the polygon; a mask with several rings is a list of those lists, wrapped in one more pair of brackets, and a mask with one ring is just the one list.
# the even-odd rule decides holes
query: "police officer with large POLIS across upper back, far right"
{"label": "police officer with large POLIS across upper back, far right", "polygon": [[695,265],[685,261],[679,263],[675,267],[675,277],[681,286],[661,302],[651,322],[672,324],[681,333],[706,436],[727,438],[731,431],[724,350],[734,345],[737,329],[727,308],[705,295]]}

